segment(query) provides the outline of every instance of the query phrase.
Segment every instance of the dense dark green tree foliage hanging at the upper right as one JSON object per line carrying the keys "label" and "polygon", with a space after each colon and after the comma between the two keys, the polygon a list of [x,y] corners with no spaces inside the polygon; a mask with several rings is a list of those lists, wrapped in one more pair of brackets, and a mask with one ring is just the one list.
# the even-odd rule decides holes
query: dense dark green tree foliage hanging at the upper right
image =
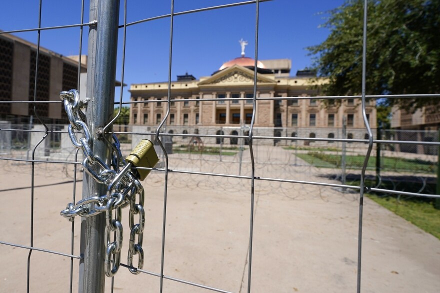
{"label": "dense dark green tree foliage hanging at the upper right", "polygon": [[[328,77],[326,95],[361,93],[363,0],[347,0],[329,11],[330,30],[309,47],[315,68]],[[368,0],[366,94],[440,92],[440,1]],[[388,99],[388,105],[415,110],[438,98]]]}

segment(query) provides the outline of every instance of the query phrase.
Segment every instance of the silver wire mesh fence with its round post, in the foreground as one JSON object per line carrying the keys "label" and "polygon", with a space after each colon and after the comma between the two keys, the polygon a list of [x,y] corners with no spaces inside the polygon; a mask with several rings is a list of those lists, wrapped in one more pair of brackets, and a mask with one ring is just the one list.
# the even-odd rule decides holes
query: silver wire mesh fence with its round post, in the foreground
{"label": "silver wire mesh fence with its round post, in the foreground", "polygon": [[[242,1],[232,4],[225,4],[225,5],[219,5],[219,6],[212,6],[212,7],[206,7],[206,8],[200,8],[200,9],[194,9],[194,10],[188,10],[188,11],[182,11],[174,13],[174,1],[171,0],[171,12],[169,14],[165,15],[159,15],[151,18],[141,19],[138,21],[134,21],[131,23],[126,22],[126,0],[124,0],[124,23],[118,24],[118,10],[119,10],[119,2],[118,1],[111,1],[111,0],[90,0],[90,11],[89,11],[89,18],[91,19],[88,23],[83,23],[83,15],[84,15],[84,0],[82,0],[82,8],[81,8],[81,23],[79,24],[71,24],[71,25],[63,25],[63,26],[52,26],[52,27],[41,27],[41,0],[39,1],[39,10],[38,10],[38,27],[36,28],[29,28],[29,29],[22,29],[22,30],[14,30],[14,31],[4,31],[0,33],[18,33],[18,32],[24,32],[24,31],[34,31],[38,34],[37,38],[37,59],[36,59],[36,68],[35,68],[35,96],[34,101],[1,101],[1,102],[8,102],[8,103],[23,103],[23,104],[33,104],[34,106],[34,116],[37,120],[40,120],[40,117],[35,112],[35,105],[38,103],[48,103],[48,101],[36,101],[36,76],[38,74],[38,55],[39,55],[39,48],[40,48],[40,34],[43,30],[48,29],[62,29],[67,27],[78,27],[79,28],[79,56],[81,55],[82,50],[82,33],[83,28],[88,27],[88,35],[89,35],[89,44],[88,44],[88,55],[89,55],[89,62],[88,62],[88,68],[87,68],[87,84],[90,86],[87,89],[87,96],[93,96],[94,98],[94,107],[96,107],[95,111],[99,113],[98,115],[93,115],[91,110],[87,110],[86,113],[89,119],[93,119],[93,125],[104,125],[106,121],[108,121],[110,115],[112,114],[112,105],[111,105],[111,97],[113,96],[113,90],[114,87],[112,87],[111,83],[114,81],[115,77],[115,58],[116,58],[116,47],[115,44],[117,42],[117,33],[118,30],[122,30],[123,35],[123,50],[121,52],[122,54],[122,73],[121,73],[121,82],[123,84],[123,75],[124,75],[124,56],[125,56],[125,33],[128,26],[136,25],[138,23],[142,23],[145,21],[153,21],[155,19],[160,18],[169,18],[170,19],[170,36],[169,36],[169,59],[168,59],[168,99],[166,101],[167,103],[167,113],[165,117],[162,119],[161,123],[157,126],[156,130],[150,133],[131,133],[131,134],[142,134],[142,135],[152,135],[155,136],[157,139],[158,144],[160,145],[163,154],[164,154],[164,166],[163,168],[157,168],[154,169],[158,172],[163,172],[165,177],[165,186],[164,186],[164,206],[163,206],[163,224],[162,224],[162,245],[161,245],[161,266],[160,266],[160,272],[159,273],[153,273],[153,272],[147,272],[139,270],[142,273],[149,274],[152,276],[156,276],[160,279],[160,292],[162,292],[162,284],[163,279],[167,280],[173,280],[176,282],[181,282],[183,284],[196,286],[200,288],[204,288],[211,291],[216,292],[226,292],[224,290],[218,289],[218,288],[211,288],[202,284],[196,284],[190,281],[186,280],[179,280],[176,278],[173,278],[171,276],[165,276],[163,275],[163,267],[164,267],[164,257],[165,257],[165,251],[164,251],[164,245],[165,245],[165,227],[166,227],[166,197],[167,197],[167,185],[168,185],[168,174],[169,173],[179,173],[182,171],[179,170],[169,170],[168,169],[168,156],[165,151],[164,146],[162,145],[160,137],[162,136],[183,136],[181,134],[168,134],[168,133],[160,133],[161,130],[164,128],[164,123],[166,119],[168,118],[169,114],[169,105],[171,102],[171,56],[172,56],[172,45],[173,45],[173,19],[175,16],[182,15],[182,14],[188,14],[188,13],[196,13],[206,10],[212,10],[212,9],[220,9],[220,8],[226,8],[226,7],[232,7],[232,6],[238,6],[238,5],[249,5],[250,8],[255,8],[255,52],[254,52],[254,59],[255,59],[255,70],[256,70],[256,62],[258,59],[258,18],[259,18],[259,4],[260,2],[264,2],[265,0],[250,0],[250,1]],[[368,133],[368,139],[354,139],[349,140],[346,138],[337,138],[337,139],[329,139],[329,138],[307,138],[307,137],[274,137],[274,136],[257,136],[253,134],[253,125],[254,125],[254,119],[255,119],[255,105],[257,100],[267,99],[267,98],[257,98],[256,96],[256,71],[254,74],[254,86],[253,86],[253,112],[252,112],[252,120],[250,123],[249,128],[249,134],[248,135],[238,135],[234,136],[238,139],[247,139],[249,142],[249,153],[251,158],[251,174],[250,176],[243,176],[243,175],[231,175],[231,174],[214,174],[214,173],[202,173],[202,172],[192,172],[192,171],[184,171],[184,173],[190,173],[190,174],[198,174],[203,176],[222,176],[222,177],[232,177],[232,178],[239,178],[241,180],[249,180],[251,183],[251,187],[249,190],[250,194],[250,218],[249,218],[249,250],[248,250],[248,272],[247,272],[247,292],[251,292],[251,269],[252,269],[252,238],[253,238],[253,215],[254,215],[254,184],[256,180],[264,180],[264,181],[277,181],[277,182],[286,182],[291,184],[312,184],[312,185],[318,185],[318,186],[326,186],[326,187],[335,187],[335,188],[342,188],[342,189],[351,189],[359,193],[359,206],[358,206],[358,244],[357,244],[357,292],[360,293],[360,277],[361,277],[361,252],[362,252],[362,213],[363,213],[363,197],[364,192],[366,191],[366,188],[364,186],[364,179],[365,179],[365,169],[367,161],[370,157],[373,144],[419,144],[424,146],[439,146],[440,143],[438,142],[414,142],[414,141],[396,141],[396,140],[384,140],[384,139],[374,139],[372,135],[372,131],[370,129],[370,126],[368,124],[368,120],[365,113],[365,99],[367,98],[373,98],[373,99],[379,99],[379,98],[424,98],[424,97],[440,97],[439,94],[422,94],[422,95],[366,95],[365,94],[365,70],[366,70],[366,23],[367,23],[367,0],[364,1],[364,17],[363,17],[363,47],[362,47],[362,88],[361,88],[361,95],[355,95],[355,96],[331,96],[331,97],[313,97],[313,99],[346,99],[346,98],[359,98],[361,99],[361,107],[362,107],[362,116],[363,121],[365,123],[365,130]],[[96,25],[97,24],[97,25]],[[96,29],[98,27],[98,29]],[[112,57],[111,62],[107,62],[106,58],[107,56]],[[78,61],[78,68],[80,68],[80,60]],[[79,72],[78,70],[78,88],[79,88]],[[99,74],[96,74],[96,72],[99,72]],[[269,98],[271,100],[294,100],[294,99],[310,99],[310,97],[287,97],[287,98]],[[206,99],[209,100],[209,99]],[[212,100],[212,99],[211,99]],[[173,102],[181,102],[182,100],[173,100]],[[141,102],[141,101],[140,101]],[[122,104],[129,104],[129,103],[136,103],[136,102],[128,102],[123,103],[122,102],[122,88],[120,93],[120,99],[119,99],[119,108]],[[105,106],[107,105],[107,106]],[[108,106],[110,105],[110,106]],[[111,113],[109,112],[111,111]],[[112,133],[111,131],[111,123],[114,121],[113,119],[110,123],[106,124],[105,127],[103,127],[103,130],[105,133]],[[60,252],[54,252],[49,251],[45,249],[36,248],[33,246],[33,203],[34,203],[34,172],[35,172],[35,163],[39,162],[35,159],[35,150],[36,148],[43,142],[45,142],[47,137],[53,132],[52,130],[49,130],[47,126],[45,126],[44,123],[41,122],[41,124],[44,125],[45,130],[42,131],[43,136],[39,140],[38,143],[36,143],[32,149],[31,158],[29,159],[21,159],[16,161],[24,161],[24,162],[30,162],[31,163],[31,199],[30,199],[30,245],[29,246],[22,246],[18,244],[12,244],[12,243],[6,243],[6,242],[0,242],[0,244],[3,245],[10,245],[14,247],[24,248],[29,251],[28,259],[27,259],[27,291],[29,292],[29,268],[31,265],[31,253],[32,251],[42,251],[46,253],[53,253],[57,255],[62,255],[69,257],[71,259],[70,262],[70,268],[71,268],[71,275],[73,271],[73,260],[78,259],[79,260],[79,268],[80,268],[80,279],[79,279],[79,290],[80,292],[103,292],[104,289],[104,274],[102,272],[102,263],[95,262],[93,260],[99,259],[97,255],[100,253],[100,250],[103,248],[103,246],[96,245],[96,243],[102,243],[103,239],[103,219],[102,217],[92,217],[88,218],[88,220],[83,220],[81,226],[84,226],[82,231],[87,231],[89,229],[97,231],[96,234],[89,234],[86,237],[81,237],[81,255],[75,256],[73,255],[73,229],[74,229],[74,222],[72,222],[72,238],[71,238],[71,253],[70,254],[63,254]],[[93,126],[94,127],[94,126]],[[7,131],[16,131],[13,129],[5,129],[2,128],[1,131],[7,132]],[[32,130],[23,130],[24,132],[28,131],[31,132]],[[92,133],[96,131],[96,128],[92,128]],[[210,138],[230,138],[230,135],[203,135],[203,134],[194,134],[192,135],[194,137],[210,137]],[[324,182],[310,182],[310,181],[299,181],[295,179],[278,179],[278,178],[266,178],[266,177],[259,177],[255,176],[255,159],[254,159],[254,142],[256,140],[288,140],[288,141],[322,141],[322,142],[359,142],[359,143],[367,143],[368,148],[365,155],[365,160],[363,167],[360,171],[360,185],[359,186],[352,186],[352,185],[346,185],[346,184],[332,184],[332,183],[324,183]],[[97,140],[93,141],[93,149],[95,153],[97,153],[99,156],[109,159],[108,149],[106,149],[105,146],[100,145],[100,142]],[[11,160],[8,158],[2,157],[1,160]],[[76,181],[76,166],[80,164],[77,160],[77,152],[75,154],[75,158],[73,161],[67,162],[67,161],[44,161],[45,163],[70,163],[74,165],[75,168],[75,181]],[[99,184],[95,182],[88,183],[88,179],[84,179],[83,184],[83,197],[86,197],[90,192],[91,193],[102,193],[102,186],[99,186]],[[389,194],[399,194],[399,195],[408,195],[408,196],[414,196],[414,197],[430,197],[430,198],[440,198],[440,195],[428,195],[428,194],[421,194],[421,193],[410,193],[410,192],[400,192],[400,191],[392,191],[392,190],[385,190],[380,188],[369,188],[369,191],[373,192],[382,192],[382,193],[389,193]],[[73,189],[73,195],[72,200],[75,202],[75,190]],[[84,249],[83,249],[84,248]],[[123,265],[125,266],[126,265]],[[70,291],[71,291],[71,284],[72,284],[72,277],[70,277]]]}

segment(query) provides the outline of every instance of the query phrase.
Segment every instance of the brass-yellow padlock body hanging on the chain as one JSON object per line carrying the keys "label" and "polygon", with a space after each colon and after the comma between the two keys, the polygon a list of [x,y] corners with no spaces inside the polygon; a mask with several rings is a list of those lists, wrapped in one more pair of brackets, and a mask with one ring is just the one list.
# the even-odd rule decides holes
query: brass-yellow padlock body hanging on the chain
{"label": "brass-yellow padlock body hanging on the chain", "polygon": [[[142,139],[136,147],[131,151],[125,161],[130,162],[136,167],[154,168],[159,161],[154,145],[147,139]],[[145,179],[151,170],[137,169],[139,173],[139,180]]]}

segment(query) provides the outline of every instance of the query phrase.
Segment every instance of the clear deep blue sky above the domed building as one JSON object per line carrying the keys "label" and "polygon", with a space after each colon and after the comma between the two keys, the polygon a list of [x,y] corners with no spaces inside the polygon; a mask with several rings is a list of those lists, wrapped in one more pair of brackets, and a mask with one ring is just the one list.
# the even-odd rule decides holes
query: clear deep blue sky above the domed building
{"label": "clear deep blue sky above the domed building", "polygon": [[[86,0],[86,2],[88,2]],[[174,0],[174,12],[234,3],[238,0]],[[291,75],[312,64],[307,46],[328,35],[319,28],[329,9],[343,0],[273,0],[259,6],[258,59],[289,58]],[[37,27],[38,0],[3,1],[0,29]],[[123,23],[123,1],[120,23]],[[43,0],[41,26],[80,23],[80,0]],[[127,22],[170,12],[169,0],[127,0]],[[84,22],[88,22],[85,3]],[[122,29],[119,30],[116,79],[121,79]],[[36,32],[16,33],[36,42]],[[87,28],[82,53],[87,53]],[[188,72],[196,78],[212,74],[225,61],[240,55],[238,40],[248,41],[246,56],[254,57],[255,4],[178,15],[174,17],[172,80]],[[41,32],[41,46],[62,55],[79,52],[79,28]],[[168,78],[169,17],[127,27],[124,83],[166,81]],[[128,87],[123,100],[129,100]],[[119,91],[116,90],[116,99]]]}

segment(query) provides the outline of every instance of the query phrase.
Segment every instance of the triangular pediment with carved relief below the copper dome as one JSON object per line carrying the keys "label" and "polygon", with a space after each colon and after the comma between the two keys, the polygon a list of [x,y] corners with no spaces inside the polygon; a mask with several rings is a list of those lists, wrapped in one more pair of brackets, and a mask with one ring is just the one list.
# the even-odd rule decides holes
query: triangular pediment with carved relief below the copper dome
{"label": "triangular pediment with carved relief below the copper dome", "polygon": [[[200,81],[198,83],[199,86],[203,85],[247,85],[253,84],[254,80],[254,72],[246,67],[233,65],[226,69],[223,69],[209,78]],[[272,84],[275,83],[275,80],[263,76],[262,74],[256,75],[256,83],[263,84]]]}

